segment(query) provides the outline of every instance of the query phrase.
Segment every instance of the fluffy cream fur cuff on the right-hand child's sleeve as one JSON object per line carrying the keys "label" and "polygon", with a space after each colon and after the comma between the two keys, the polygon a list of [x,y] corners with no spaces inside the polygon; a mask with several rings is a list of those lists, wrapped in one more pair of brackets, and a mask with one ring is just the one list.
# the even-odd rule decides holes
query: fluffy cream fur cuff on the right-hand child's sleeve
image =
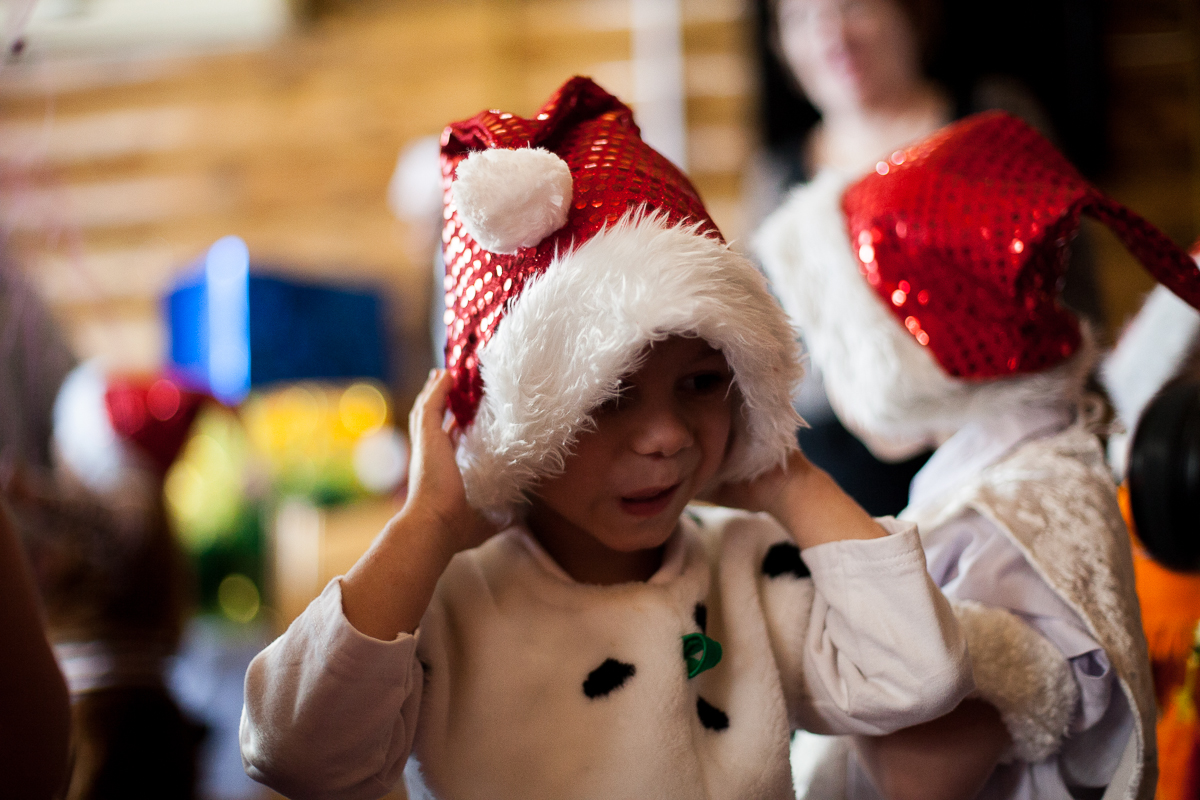
{"label": "fluffy cream fur cuff on the right-hand child's sleeve", "polygon": [[1016,615],[973,601],[950,601],[967,637],[976,691],[1000,710],[1013,744],[1001,763],[1040,762],[1058,752],[1079,703],[1062,652]]}

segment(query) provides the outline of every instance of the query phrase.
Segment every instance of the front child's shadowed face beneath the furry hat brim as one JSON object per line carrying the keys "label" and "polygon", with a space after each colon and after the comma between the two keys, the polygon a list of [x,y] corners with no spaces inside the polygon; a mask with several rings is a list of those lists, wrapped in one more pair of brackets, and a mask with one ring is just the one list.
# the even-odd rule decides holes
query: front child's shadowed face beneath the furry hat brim
{"label": "front child's shadowed face beneath the furry hat brim", "polygon": [[[662,546],[725,458],[732,379],[719,350],[673,336],[596,409],[595,429],[580,435],[563,473],[530,497],[529,527],[569,573],[604,575],[590,567]],[[649,576],[625,579],[637,577]]]}

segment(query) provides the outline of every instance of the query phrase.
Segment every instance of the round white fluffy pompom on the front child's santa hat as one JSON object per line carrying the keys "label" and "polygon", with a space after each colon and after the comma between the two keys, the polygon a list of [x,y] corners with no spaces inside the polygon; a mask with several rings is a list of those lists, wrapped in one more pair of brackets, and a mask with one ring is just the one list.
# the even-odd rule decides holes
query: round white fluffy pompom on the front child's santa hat
{"label": "round white fluffy pompom on the front child's santa hat", "polygon": [[541,148],[476,150],[450,185],[467,233],[493,253],[533,247],[566,224],[571,170]]}

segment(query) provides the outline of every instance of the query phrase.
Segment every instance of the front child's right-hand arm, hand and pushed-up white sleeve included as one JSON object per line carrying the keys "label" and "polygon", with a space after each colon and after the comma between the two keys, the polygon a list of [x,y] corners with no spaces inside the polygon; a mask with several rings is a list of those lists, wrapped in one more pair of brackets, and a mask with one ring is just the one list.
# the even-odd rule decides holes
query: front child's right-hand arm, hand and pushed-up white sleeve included
{"label": "front child's right-hand arm, hand and pushed-up white sleeve included", "polygon": [[964,632],[916,525],[872,519],[798,452],[715,499],[768,512],[811,576],[810,601],[782,583],[763,589],[793,724],[886,735],[950,712],[973,688]]}

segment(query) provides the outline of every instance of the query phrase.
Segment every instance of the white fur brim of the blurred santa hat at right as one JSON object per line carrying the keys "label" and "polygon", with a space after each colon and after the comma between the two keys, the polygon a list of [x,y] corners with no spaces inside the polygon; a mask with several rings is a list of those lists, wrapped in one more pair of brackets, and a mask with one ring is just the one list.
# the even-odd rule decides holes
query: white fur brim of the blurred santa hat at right
{"label": "white fur brim of the blurred santa hat at right", "polygon": [[767,218],[754,243],[830,404],[876,456],[899,461],[971,420],[1079,398],[1094,360],[1088,336],[1080,353],[1044,373],[974,381],[948,375],[863,278],[841,211],[848,182],[834,172],[818,174]]}

